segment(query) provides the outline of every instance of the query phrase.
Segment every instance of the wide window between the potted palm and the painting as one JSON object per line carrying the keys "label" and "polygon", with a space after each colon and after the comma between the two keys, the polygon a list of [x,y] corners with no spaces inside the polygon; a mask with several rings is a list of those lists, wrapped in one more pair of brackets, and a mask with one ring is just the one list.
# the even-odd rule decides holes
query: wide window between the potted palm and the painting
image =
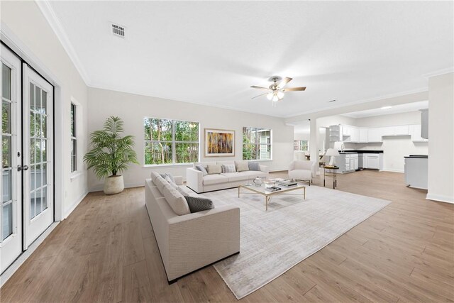
{"label": "wide window between the potted palm and the painting", "polygon": [[145,165],[199,161],[199,123],[145,118]]}

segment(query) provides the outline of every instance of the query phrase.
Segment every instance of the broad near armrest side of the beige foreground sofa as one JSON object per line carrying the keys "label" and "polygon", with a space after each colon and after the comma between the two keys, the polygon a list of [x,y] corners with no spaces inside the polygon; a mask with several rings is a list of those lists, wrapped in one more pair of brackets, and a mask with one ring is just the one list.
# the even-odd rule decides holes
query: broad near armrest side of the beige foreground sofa
{"label": "broad near armrest side of the beige foreground sofa", "polygon": [[168,219],[168,223],[169,280],[240,251],[238,207],[215,207]]}

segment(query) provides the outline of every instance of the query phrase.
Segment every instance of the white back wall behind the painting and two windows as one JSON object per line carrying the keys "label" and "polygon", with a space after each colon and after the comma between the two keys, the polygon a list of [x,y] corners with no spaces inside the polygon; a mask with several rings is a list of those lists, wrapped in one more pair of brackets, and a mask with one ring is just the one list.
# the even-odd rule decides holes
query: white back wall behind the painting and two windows
{"label": "white back wall behind the painting and two windows", "polygon": [[[152,170],[186,176],[188,165],[143,167],[143,118],[145,116],[198,121],[201,138],[203,138],[204,128],[220,128],[236,132],[235,157],[204,158],[202,152],[201,161],[241,160],[243,156],[243,126],[272,128],[273,160],[263,162],[264,165],[269,165],[270,170],[287,170],[289,162],[293,159],[293,126],[285,125],[283,119],[106,89],[89,88],[88,95],[89,133],[102,128],[104,121],[109,116],[119,116],[125,122],[125,134],[135,136],[135,150],[141,165],[131,165],[123,173],[126,187],[142,186],[145,178],[150,176]],[[200,148],[203,148],[203,146],[202,143]],[[103,181],[97,180],[91,171],[89,172],[88,182],[90,191],[102,188]]]}

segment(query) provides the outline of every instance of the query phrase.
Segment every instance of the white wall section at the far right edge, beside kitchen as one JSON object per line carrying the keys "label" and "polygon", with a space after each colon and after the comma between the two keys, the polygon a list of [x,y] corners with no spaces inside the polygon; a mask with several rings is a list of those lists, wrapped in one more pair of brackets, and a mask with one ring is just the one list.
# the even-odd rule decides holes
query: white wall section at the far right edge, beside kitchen
{"label": "white wall section at the far right edge, beside kitchen", "polygon": [[428,80],[427,199],[454,203],[454,73]]}

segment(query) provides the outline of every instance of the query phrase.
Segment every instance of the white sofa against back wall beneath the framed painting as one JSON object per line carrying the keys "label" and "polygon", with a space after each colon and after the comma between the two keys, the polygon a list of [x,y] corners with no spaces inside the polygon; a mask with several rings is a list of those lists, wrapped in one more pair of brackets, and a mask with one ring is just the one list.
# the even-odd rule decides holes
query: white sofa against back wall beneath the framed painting
{"label": "white sofa against back wall beneath the framed painting", "polygon": [[186,169],[186,185],[194,192],[211,192],[218,189],[238,187],[239,184],[245,184],[248,180],[252,182],[256,177],[267,178],[269,168],[265,165],[259,165],[260,170],[248,170],[245,172],[222,172],[221,174],[203,175],[203,172],[197,170],[196,165],[237,165],[240,162],[249,161],[216,161],[216,162],[196,162],[194,167]]}

